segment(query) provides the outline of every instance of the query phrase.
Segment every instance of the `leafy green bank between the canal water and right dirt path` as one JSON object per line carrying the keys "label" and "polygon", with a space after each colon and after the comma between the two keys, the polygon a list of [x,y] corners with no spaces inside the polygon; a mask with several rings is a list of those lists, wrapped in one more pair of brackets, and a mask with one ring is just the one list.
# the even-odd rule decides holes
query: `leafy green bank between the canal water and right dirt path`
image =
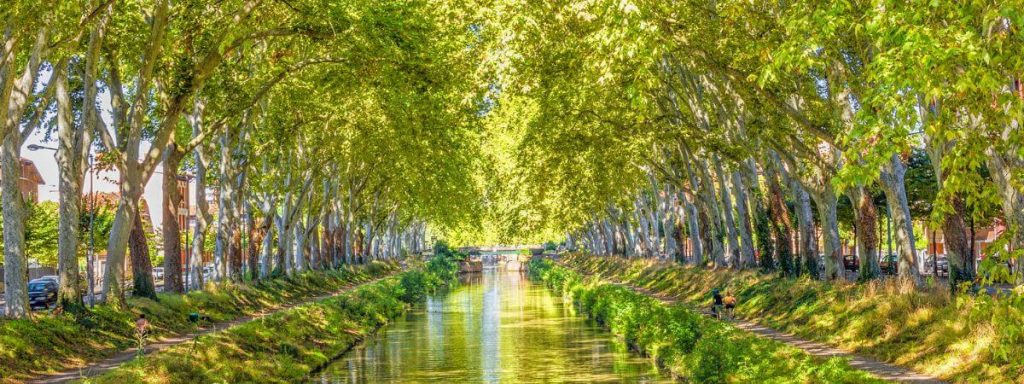
{"label": "leafy green bank between the canal water and right dirt path", "polygon": [[698,383],[872,383],[845,359],[817,358],[632,290],[535,260],[530,274],[674,375]]}

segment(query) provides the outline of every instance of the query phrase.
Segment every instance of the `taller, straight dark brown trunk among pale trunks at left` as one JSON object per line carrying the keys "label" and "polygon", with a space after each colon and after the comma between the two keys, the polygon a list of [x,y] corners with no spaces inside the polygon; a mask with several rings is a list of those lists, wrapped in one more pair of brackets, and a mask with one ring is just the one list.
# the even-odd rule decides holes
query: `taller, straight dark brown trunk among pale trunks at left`
{"label": "taller, straight dark brown trunk among pale trunks at left", "polygon": [[178,191],[178,167],[185,153],[177,144],[171,143],[164,156],[164,223],[162,227],[164,241],[164,292],[184,292],[184,282],[181,276],[181,227],[178,223],[178,209],[181,207],[181,194]]}

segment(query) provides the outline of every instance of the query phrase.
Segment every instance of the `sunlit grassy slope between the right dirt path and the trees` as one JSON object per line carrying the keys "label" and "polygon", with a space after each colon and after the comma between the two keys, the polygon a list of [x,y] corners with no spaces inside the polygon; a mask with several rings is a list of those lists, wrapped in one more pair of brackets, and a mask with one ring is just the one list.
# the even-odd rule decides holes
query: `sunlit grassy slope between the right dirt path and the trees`
{"label": "sunlit grassy slope between the right dirt path and the trees", "polygon": [[565,262],[709,306],[713,288],[732,290],[736,314],[803,338],[956,382],[1024,377],[1024,297],[950,297],[896,282],[824,284],[753,271],[573,255]]}

